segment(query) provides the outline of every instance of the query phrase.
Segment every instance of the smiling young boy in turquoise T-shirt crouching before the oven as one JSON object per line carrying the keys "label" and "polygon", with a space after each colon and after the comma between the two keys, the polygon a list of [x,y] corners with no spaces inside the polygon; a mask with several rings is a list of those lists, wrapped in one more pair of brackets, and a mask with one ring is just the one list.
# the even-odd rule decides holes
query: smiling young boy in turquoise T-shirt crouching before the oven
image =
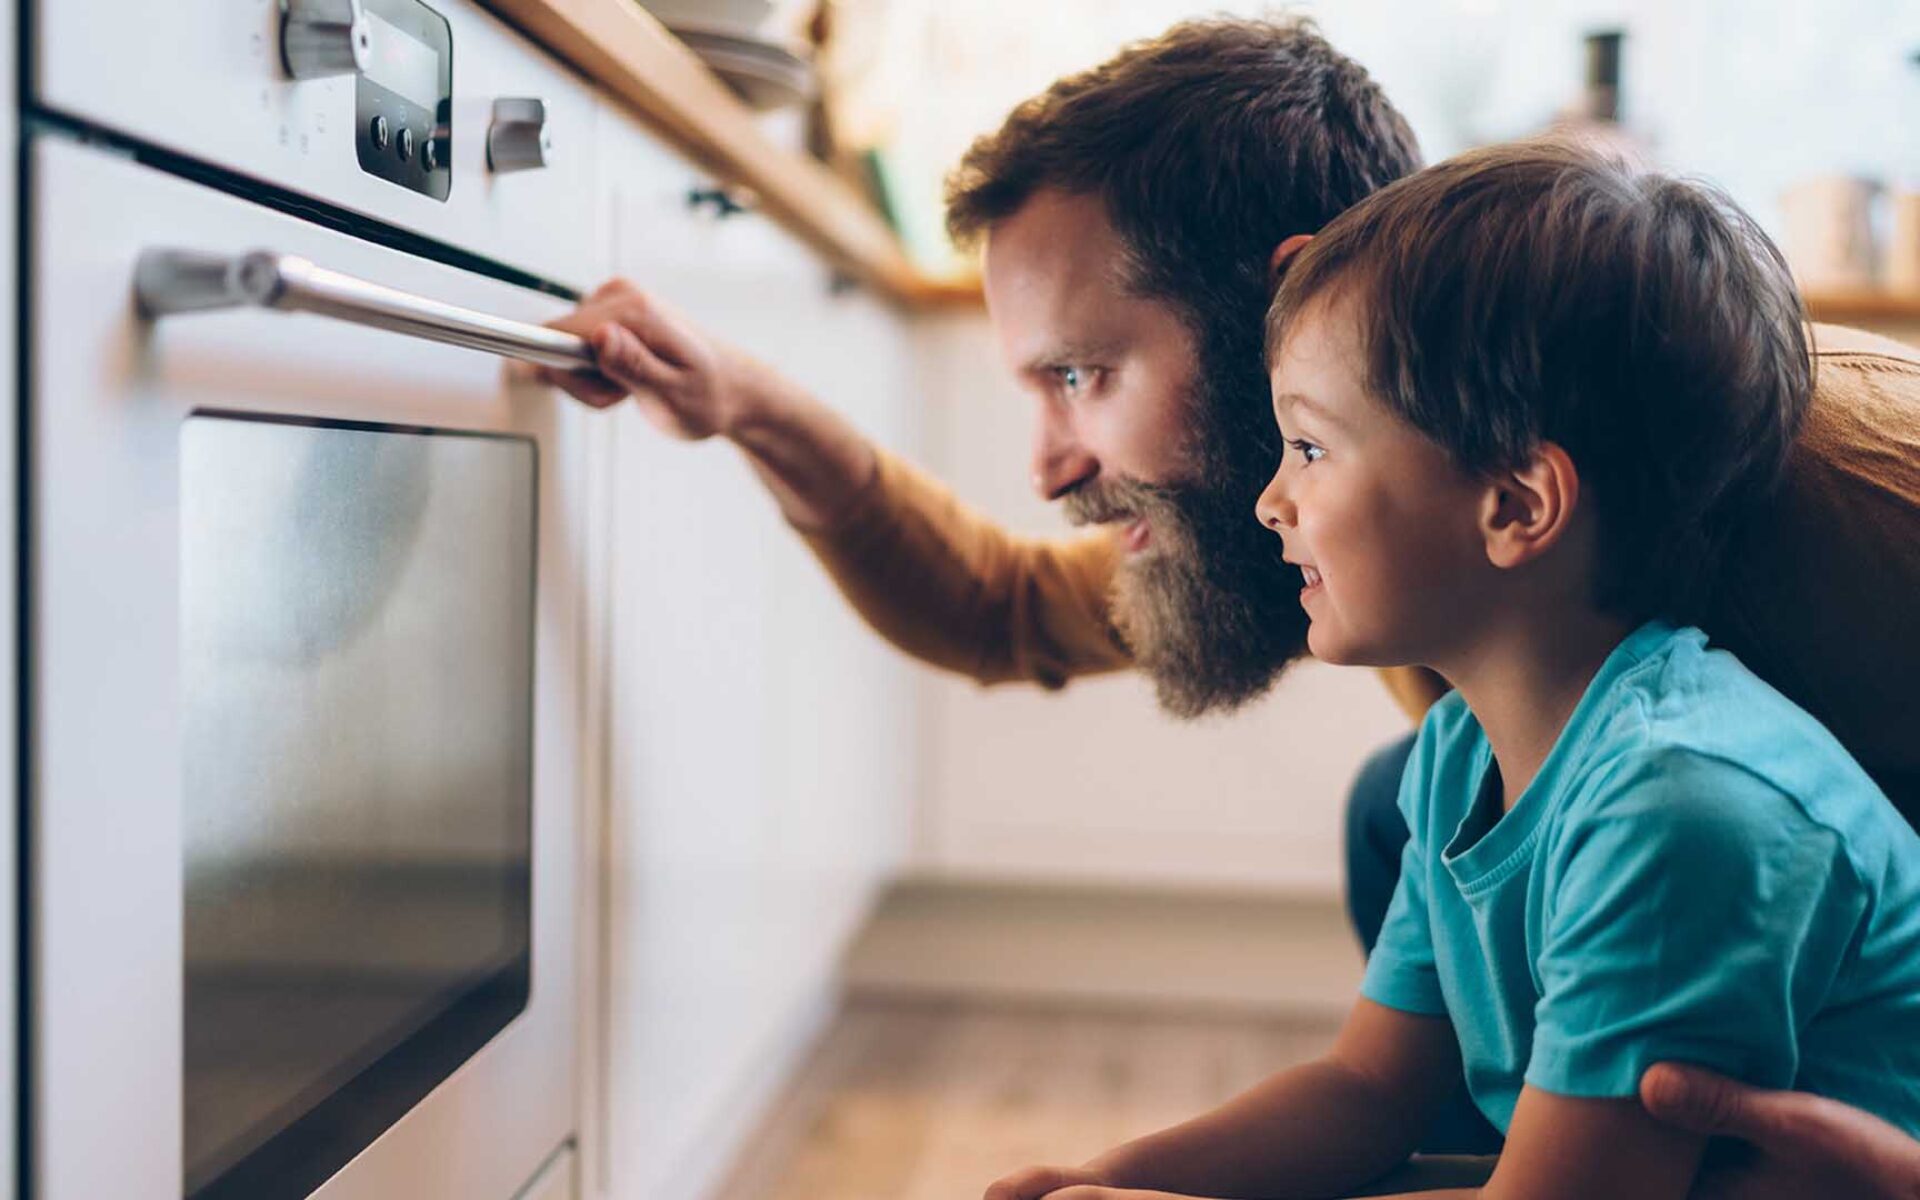
{"label": "smiling young boy in turquoise T-shirt crouching before the oven", "polygon": [[1726,200],[1572,146],[1452,159],[1308,244],[1258,515],[1319,659],[1455,685],[1400,891],[1327,1056],[989,1200],[1338,1196],[1461,1071],[1507,1146],[1457,1196],[1684,1196],[1703,1142],[1636,1100],[1659,1060],[1920,1133],[1920,837],[1686,626],[1793,442],[1801,321]]}

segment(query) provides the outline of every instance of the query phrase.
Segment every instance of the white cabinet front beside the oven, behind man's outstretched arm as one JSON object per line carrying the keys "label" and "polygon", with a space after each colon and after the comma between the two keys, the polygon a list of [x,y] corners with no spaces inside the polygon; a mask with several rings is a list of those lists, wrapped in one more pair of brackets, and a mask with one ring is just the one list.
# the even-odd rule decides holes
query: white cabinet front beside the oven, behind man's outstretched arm
{"label": "white cabinet front beside the oven, behind man's outstretched arm", "polygon": [[[612,271],[900,440],[897,313],[829,294],[764,217],[689,209],[701,177],[618,115],[599,167]],[[829,1012],[904,849],[914,685],[730,445],[670,442],[632,407],[589,440],[605,885],[586,1194],[691,1200]]]}

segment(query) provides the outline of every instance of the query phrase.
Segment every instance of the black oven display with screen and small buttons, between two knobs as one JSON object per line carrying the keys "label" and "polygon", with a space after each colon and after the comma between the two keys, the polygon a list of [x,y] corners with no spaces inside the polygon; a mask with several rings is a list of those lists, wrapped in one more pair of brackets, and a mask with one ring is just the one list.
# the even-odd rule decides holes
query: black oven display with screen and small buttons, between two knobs
{"label": "black oven display with screen and small buttons, between two knobs", "polygon": [[453,29],[420,0],[361,0],[372,35],[353,83],[361,171],[445,200],[453,190]]}

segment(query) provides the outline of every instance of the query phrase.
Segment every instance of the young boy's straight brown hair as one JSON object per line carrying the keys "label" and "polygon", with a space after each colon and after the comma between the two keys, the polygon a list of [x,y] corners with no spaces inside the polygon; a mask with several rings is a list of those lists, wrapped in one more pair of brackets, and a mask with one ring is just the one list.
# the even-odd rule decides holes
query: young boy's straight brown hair
{"label": "young boy's straight brown hair", "polygon": [[1693,620],[1812,397],[1780,252],[1722,192],[1572,142],[1490,146],[1332,221],[1288,267],[1267,359],[1352,300],[1377,399],[1473,474],[1561,445],[1596,505],[1596,603]]}

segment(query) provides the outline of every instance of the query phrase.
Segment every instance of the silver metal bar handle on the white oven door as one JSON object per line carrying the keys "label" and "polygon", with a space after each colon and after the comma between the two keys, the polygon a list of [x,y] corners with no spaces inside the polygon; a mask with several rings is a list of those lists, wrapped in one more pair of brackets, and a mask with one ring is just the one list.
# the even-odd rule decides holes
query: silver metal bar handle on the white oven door
{"label": "silver metal bar handle on the white oven door", "polygon": [[371,284],[271,250],[142,250],[132,290],[150,319],[236,307],[315,313],[543,367],[593,369],[593,349],[574,334]]}

